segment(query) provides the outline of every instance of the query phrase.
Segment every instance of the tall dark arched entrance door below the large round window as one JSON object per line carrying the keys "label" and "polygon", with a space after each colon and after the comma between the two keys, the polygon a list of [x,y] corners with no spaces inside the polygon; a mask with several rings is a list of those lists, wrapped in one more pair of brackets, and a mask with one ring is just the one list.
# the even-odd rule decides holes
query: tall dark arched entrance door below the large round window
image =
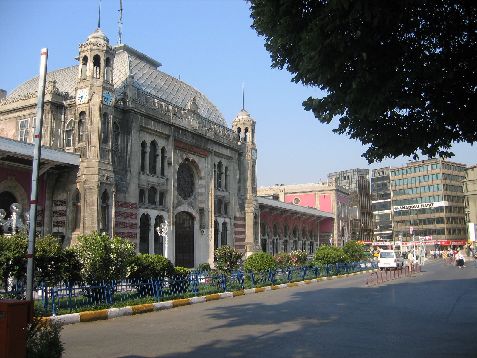
{"label": "tall dark arched entrance door below the large round window", "polygon": [[181,211],[175,217],[175,266],[194,267],[194,217]]}

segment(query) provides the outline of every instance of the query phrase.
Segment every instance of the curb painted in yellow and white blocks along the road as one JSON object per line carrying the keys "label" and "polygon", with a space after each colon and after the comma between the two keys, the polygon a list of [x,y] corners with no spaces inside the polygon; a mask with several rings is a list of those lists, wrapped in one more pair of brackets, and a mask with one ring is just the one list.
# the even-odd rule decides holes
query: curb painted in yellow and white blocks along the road
{"label": "curb painted in yellow and white blocks along the road", "polygon": [[256,294],[259,292],[278,290],[280,288],[300,286],[302,284],[311,284],[314,282],[334,280],[337,278],[356,276],[359,274],[369,274],[369,273],[377,272],[377,271],[379,270],[368,270],[368,271],[355,272],[353,274],[314,278],[311,280],[290,282],[288,284],[276,284],[276,285],[266,286],[266,287],[249,288],[245,290],[224,292],[219,294],[197,296],[197,297],[191,297],[191,298],[181,298],[181,299],[176,299],[171,301],[156,302],[152,304],[127,306],[122,308],[109,308],[109,309],[87,311],[87,312],[80,312],[80,313],[70,313],[70,314],[61,315],[61,316],[44,317],[43,320],[47,321],[46,323],[48,323],[49,321],[61,321],[62,325],[71,325],[71,324],[80,323],[80,322],[101,321],[104,319],[133,316],[133,315],[139,315],[139,314],[148,313],[148,312],[157,312],[157,311],[162,311],[165,309],[170,309],[170,308],[175,308],[180,306],[195,305],[197,303],[215,301],[222,298]]}

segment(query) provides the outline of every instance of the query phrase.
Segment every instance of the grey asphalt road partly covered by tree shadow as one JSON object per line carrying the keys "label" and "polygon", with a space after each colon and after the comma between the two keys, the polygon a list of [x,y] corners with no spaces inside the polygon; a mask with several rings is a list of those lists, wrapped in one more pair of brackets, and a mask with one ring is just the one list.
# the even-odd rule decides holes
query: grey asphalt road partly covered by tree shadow
{"label": "grey asphalt road partly covered by tree shadow", "polygon": [[425,263],[65,326],[65,358],[477,357],[477,269]]}

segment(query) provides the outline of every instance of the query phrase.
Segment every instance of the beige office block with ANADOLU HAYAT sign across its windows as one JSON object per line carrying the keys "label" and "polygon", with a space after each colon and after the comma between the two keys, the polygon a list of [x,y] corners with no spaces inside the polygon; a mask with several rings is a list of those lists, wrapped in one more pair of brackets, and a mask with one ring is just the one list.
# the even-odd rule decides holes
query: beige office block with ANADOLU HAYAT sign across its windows
{"label": "beige office block with ANADOLU HAYAT sign across its windows", "polygon": [[427,250],[464,247],[465,169],[465,164],[442,158],[391,169],[395,242],[409,247],[421,240]]}

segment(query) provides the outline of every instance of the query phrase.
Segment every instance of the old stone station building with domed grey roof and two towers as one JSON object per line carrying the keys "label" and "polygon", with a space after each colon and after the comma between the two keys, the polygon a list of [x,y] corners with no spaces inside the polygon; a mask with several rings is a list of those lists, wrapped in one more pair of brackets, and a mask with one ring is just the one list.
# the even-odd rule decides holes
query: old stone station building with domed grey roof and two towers
{"label": "old stone station building with domed grey roof and two towers", "polygon": [[[113,233],[137,253],[185,267],[212,263],[223,244],[245,257],[313,252],[320,221],[334,214],[257,196],[256,122],[245,109],[229,128],[205,95],[145,54],[110,45],[100,29],[79,45],[77,60],[46,76],[39,234],[68,246],[81,234]],[[3,220],[18,202],[26,221],[37,101],[38,77],[0,90]],[[263,227],[264,215],[279,224]]]}

